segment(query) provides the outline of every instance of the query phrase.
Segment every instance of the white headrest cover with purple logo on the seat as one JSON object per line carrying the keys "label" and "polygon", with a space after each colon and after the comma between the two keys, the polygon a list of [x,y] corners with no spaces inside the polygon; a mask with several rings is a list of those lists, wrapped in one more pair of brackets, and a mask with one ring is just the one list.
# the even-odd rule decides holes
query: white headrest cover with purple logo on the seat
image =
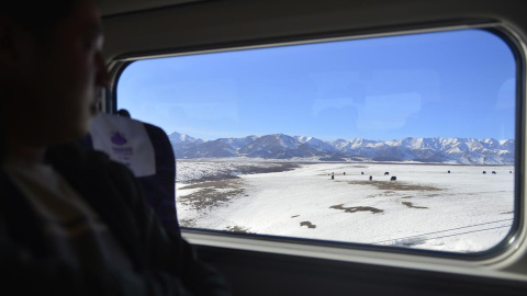
{"label": "white headrest cover with purple logo on the seat", "polygon": [[156,173],[154,147],[142,122],[101,112],[91,121],[90,134],[93,149],[124,163],[136,177]]}

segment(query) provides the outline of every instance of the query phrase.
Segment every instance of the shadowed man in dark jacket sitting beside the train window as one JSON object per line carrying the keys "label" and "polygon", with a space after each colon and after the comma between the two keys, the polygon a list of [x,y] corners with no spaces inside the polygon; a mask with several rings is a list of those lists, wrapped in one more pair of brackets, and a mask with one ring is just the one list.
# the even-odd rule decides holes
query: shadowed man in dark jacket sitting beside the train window
{"label": "shadowed man in dark jacket sitting beside the train window", "polygon": [[[123,164],[78,140],[108,84],[96,0],[0,4],[0,266],[20,295],[231,295]],[[113,135],[120,143],[123,135]]]}

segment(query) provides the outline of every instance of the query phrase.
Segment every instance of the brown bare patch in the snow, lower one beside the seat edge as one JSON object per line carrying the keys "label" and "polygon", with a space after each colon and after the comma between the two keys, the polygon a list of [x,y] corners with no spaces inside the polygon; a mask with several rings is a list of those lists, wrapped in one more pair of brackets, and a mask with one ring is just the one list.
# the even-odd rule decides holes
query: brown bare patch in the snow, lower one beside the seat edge
{"label": "brown bare patch in the snow, lower one beside the seat edge", "polygon": [[188,195],[179,196],[179,202],[194,209],[206,209],[228,202],[232,197],[244,194],[242,180],[223,180],[204,182],[180,187],[179,190],[198,189]]}

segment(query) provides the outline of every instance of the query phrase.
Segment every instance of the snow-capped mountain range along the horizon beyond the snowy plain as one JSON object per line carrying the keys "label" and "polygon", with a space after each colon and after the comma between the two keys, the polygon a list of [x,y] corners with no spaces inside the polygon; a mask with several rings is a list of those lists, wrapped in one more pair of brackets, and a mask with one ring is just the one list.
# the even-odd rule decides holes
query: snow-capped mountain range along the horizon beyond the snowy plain
{"label": "snow-capped mountain range along the horizon beyond the snowy plain", "polygon": [[188,135],[169,135],[178,159],[262,158],[319,161],[418,161],[460,164],[513,164],[514,139],[413,138],[324,141],[314,137],[273,134],[204,141]]}

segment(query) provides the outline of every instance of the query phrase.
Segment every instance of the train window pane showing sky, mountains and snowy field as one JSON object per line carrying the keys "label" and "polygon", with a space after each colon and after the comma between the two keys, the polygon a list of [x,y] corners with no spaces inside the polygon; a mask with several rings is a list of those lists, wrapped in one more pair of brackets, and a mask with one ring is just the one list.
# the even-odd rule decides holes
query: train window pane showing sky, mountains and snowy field
{"label": "train window pane showing sky, mountains and snowy field", "polygon": [[183,227],[478,253],[518,216],[516,62],[479,29],[191,53],[116,106],[169,134]]}

